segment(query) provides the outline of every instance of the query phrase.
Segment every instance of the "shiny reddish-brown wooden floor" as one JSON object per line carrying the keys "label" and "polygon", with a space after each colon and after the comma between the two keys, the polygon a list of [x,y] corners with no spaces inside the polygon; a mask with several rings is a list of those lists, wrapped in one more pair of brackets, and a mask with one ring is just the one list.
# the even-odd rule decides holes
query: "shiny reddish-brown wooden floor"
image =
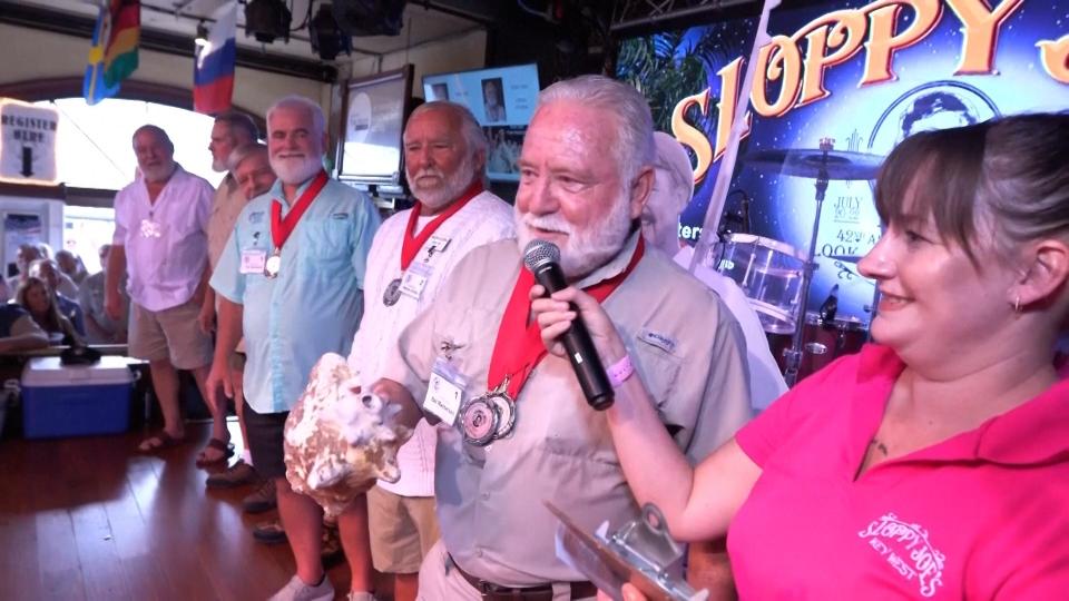
{"label": "shiny reddish-brown wooden floor", "polygon": [[[0,599],[262,600],[285,584],[288,545],[252,536],[276,514],[243,514],[248,489],[206,490],[208,430],[187,432],[158,455],[140,432],[0,441]],[[349,568],[327,574],[344,599]]]}

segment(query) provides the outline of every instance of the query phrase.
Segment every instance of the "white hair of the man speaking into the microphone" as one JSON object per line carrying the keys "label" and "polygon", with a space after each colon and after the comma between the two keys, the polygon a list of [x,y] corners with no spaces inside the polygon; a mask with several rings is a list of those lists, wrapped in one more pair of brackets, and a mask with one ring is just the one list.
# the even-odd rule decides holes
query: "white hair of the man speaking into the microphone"
{"label": "white hair of the man speaking into the microphone", "polygon": [[630,188],[644,167],[653,165],[654,118],[649,104],[638,90],[605,76],[580,76],[542,90],[538,95],[538,108],[560,100],[601,109],[616,119],[617,144],[612,154],[626,188]]}

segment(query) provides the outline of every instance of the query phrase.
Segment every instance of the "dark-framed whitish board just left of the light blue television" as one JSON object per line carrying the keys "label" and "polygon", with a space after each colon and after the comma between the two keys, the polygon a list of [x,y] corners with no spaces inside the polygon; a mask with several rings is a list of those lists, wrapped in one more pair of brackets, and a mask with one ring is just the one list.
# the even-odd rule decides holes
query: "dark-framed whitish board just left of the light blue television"
{"label": "dark-framed whitish board just left of the light blue television", "polygon": [[380,186],[402,184],[401,134],[411,91],[411,67],[346,85],[339,141],[340,179]]}

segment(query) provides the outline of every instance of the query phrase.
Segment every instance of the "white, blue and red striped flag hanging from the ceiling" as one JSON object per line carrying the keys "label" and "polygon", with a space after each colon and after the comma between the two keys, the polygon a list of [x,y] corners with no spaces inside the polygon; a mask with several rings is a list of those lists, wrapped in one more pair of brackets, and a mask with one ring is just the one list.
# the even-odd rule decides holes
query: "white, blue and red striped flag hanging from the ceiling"
{"label": "white, blue and red striped flag hanging from the ceiling", "polygon": [[193,65],[193,110],[217,115],[231,109],[237,59],[237,0],[219,7],[207,42],[197,45]]}

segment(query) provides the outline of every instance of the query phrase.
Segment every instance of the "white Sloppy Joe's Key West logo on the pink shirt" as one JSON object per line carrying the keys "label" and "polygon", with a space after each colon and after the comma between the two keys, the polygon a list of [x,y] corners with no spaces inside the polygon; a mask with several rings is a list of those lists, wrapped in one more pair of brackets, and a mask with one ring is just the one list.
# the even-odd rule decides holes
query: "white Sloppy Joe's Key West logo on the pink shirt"
{"label": "white Sloppy Joe's Key West logo on the pink shirt", "polygon": [[857,533],[869,546],[887,560],[902,578],[916,581],[922,597],[932,597],[943,584],[947,556],[928,540],[928,530],[903,522],[894,513],[873,520]]}

